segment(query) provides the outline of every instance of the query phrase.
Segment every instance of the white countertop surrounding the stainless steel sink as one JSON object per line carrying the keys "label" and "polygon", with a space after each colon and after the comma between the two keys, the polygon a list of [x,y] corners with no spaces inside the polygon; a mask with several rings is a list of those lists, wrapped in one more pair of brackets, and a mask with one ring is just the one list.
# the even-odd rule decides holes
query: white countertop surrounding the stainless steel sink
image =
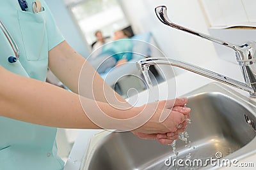
{"label": "white countertop surrounding the stainless steel sink", "polygon": [[[240,67],[232,62],[227,62],[221,59],[212,59],[201,65],[205,69],[209,69],[216,73],[224,74],[225,76],[234,78],[238,81],[243,81]],[[211,83],[214,80],[186,71],[185,73],[182,73],[179,76],[176,76],[174,79],[170,79],[168,81],[176,81],[176,96],[179,97],[187,94],[188,92],[191,92],[192,90],[198,89],[208,83]],[[166,91],[173,89],[173,87],[167,87],[167,84],[168,83],[166,82],[159,84],[158,89],[160,100],[164,99],[164,94],[166,94]],[[241,93],[243,96],[249,97],[248,92],[244,92],[243,90],[239,90],[234,87],[231,88]],[[147,102],[147,94],[147,91],[141,92],[140,94],[138,94],[138,96],[131,97],[131,100],[136,100],[138,98],[136,106],[141,106],[142,104],[145,104]],[[79,132],[79,135],[70,152],[64,170],[79,170],[81,162],[83,162],[84,155],[86,155],[88,148],[90,149],[91,147],[89,145],[90,139],[93,135],[98,134],[102,131],[104,130],[81,130],[81,132]],[[104,132],[102,132],[102,134],[104,134]],[[240,162],[253,162],[254,166],[256,167],[256,155],[240,160]],[[234,169],[234,167],[231,168]]]}

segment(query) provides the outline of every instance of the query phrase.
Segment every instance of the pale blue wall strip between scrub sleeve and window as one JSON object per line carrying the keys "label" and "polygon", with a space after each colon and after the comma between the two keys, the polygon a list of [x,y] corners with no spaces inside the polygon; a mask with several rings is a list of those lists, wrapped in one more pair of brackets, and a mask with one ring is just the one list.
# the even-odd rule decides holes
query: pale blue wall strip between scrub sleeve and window
{"label": "pale blue wall strip between scrub sleeve and window", "polygon": [[74,48],[78,53],[84,57],[88,57],[88,46],[84,39],[81,37],[79,30],[74,24],[70,13],[65,7],[62,0],[45,0],[52,15],[56,20],[56,24],[60,28],[61,33],[65,37],[66,41]]}

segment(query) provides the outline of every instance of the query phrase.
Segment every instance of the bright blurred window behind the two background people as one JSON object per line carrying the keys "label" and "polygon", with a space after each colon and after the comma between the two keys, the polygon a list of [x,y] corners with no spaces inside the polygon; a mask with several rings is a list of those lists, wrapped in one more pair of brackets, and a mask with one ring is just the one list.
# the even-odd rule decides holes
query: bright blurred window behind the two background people
{"label": "bright blurred window behind the two background people", "polygon": [[129,26],[118,0],[64,0],[89,45],[95,31],[112,36],[118,29]]}

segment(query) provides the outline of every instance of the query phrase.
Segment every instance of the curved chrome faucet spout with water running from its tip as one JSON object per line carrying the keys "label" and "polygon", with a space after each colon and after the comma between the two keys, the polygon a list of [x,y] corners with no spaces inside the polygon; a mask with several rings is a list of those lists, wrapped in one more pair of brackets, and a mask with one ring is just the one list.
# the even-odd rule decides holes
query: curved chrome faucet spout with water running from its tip
{"label": "curved chrome faucet spout with water running from its tip", "polygon": [[148,67],[151,65],[170,65],[170,66],[180,67],[182,69],[186,69],[193,73],[200,74],[207,78],[220,81],[221,83],[231,85],[232,87],[245,90],[246,92],[250,92],[251,97],[256,97],[255,90],[253,90],[252,87],[250,87],[249,85],[246,85],[246,83],[234,80],[232,78],[229,78],[222,74],[215,73],[213,71],[209,71],[208,69],[204,69],[202,67],[189,64],[187,62],[182,62],[180,60],[165,59],[165,58],[147,58],[147,59],[138,60],[136,64],[141,71],[148,71]]}

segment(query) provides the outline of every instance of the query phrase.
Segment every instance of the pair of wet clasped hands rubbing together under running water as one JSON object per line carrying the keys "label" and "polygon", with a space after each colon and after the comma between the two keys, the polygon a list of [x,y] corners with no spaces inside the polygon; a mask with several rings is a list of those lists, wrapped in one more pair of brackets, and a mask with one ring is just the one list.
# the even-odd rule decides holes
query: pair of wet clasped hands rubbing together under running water
{"label": "pair of wet clasped hands rubbing together under running water", "polygon": [[[185,131],[185,127],[188,124],[186,119],[189,118],[190,108],[184,106],[186,103],[186,98],[160,101],[154,116],[142,127],[132,131],[132,133],[143,139],[157,139],[163,144],[172,143],[174,139],[178,138],[179,132]],[[164,122],[159,122],[161,115],[159,113],[164,111],[168,111],[170,115]],[[181,126],[179,127],[179,125]]]}

